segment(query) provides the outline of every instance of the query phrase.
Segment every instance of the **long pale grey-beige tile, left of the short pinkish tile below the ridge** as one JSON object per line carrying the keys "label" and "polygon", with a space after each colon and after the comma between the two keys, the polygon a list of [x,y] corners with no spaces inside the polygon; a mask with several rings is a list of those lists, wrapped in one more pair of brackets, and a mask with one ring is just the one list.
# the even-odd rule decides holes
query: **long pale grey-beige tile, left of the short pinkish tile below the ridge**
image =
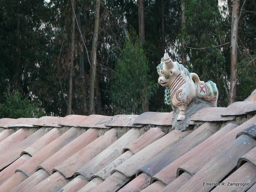
{"label": "long pale grey-beige tile, left of the short pinkish tile below the ridge", "polygon": [[[92,176],[98,172],[104,165],[112,162],[115,158],[122,154],[123,148],[130,142],[136,140],[140,134],[140,129],[132,128],[122,137],[116,140],[108,148],[94,157],[90,162],[85,164],[76,174],[81,174],[87,180],[91,180]],[[76,175],[75,174],[75,175]]]}

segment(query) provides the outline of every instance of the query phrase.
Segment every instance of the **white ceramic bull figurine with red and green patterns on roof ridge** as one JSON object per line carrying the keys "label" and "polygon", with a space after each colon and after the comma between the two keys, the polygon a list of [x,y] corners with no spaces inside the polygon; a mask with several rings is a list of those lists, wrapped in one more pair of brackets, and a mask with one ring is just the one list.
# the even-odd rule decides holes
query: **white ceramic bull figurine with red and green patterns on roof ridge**
{"label": "white ceramic bull figurine with red and green patterns on roof ridge", "polygon": [[164,58],[157,66],[157,72],[158,83],[166,87],[164,103],[180,110],[177,120],[185,118],[186,108],[194,97],[202,98],[217,106],[216,84],[212,81],[206,83],[200,81],[196,73],[189,73],[182,64],[172,62],[168,54],[164,54]]}

